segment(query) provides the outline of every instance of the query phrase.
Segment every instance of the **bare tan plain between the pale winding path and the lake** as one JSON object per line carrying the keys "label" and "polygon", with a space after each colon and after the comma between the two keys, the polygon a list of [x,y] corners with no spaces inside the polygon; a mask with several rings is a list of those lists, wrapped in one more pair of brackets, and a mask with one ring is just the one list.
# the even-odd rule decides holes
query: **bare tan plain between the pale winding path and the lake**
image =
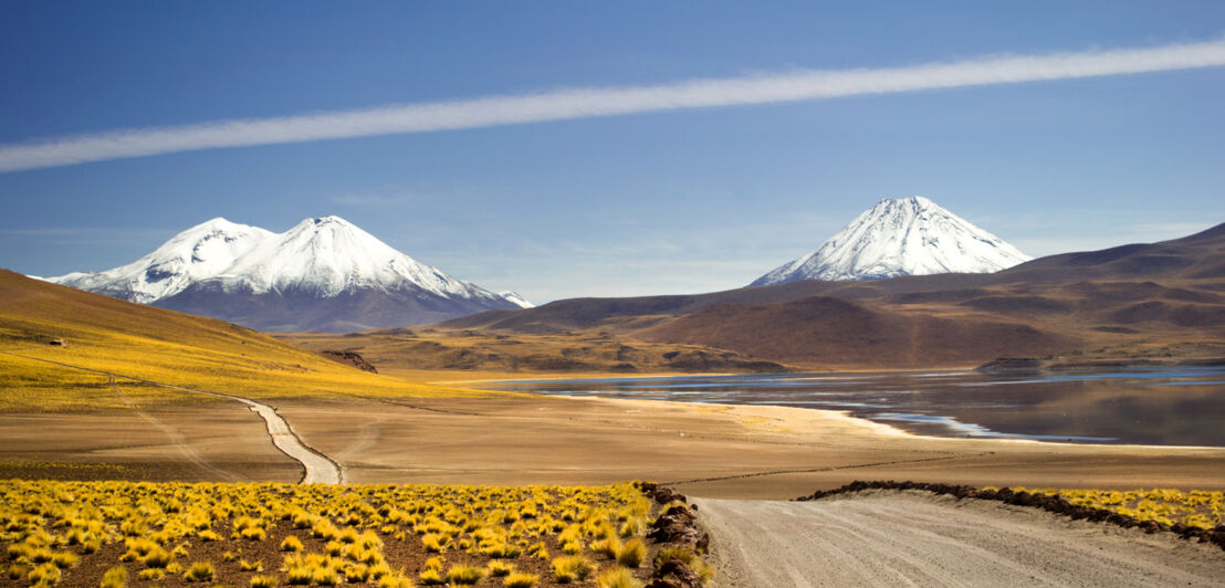
{"label": "bare tan plain between the pale winding path and the lake", "polygon": [[810,409],[516,396],[273,404],[352,483],[637,478],[696,496],[784,500],[855,479],[1225,488],[1225,448],[919,437]]}

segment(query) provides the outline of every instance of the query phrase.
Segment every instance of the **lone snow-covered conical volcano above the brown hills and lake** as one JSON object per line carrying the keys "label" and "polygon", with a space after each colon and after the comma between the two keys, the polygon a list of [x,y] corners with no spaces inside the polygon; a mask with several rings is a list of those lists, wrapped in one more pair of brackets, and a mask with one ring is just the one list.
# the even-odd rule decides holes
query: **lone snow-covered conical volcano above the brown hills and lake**
{"label": "lone snow-covered conical volcano above the brown hills and lake", "polygon": [[750,285],[991,273],[1031,258],[922,196],[886,198],[811,254]]}

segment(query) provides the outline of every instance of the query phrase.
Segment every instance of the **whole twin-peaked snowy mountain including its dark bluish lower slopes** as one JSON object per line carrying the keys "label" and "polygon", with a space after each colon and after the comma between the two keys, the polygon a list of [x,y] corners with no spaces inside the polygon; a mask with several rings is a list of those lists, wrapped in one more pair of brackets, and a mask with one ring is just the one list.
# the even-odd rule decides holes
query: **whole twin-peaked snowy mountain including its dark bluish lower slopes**
{"label": "whole twin-peaked snowy mountain including its dark bluish lower slopes", "polygon": [[48,278],[266,331],[349,332],[521,307],[339,218],[284,233],[214,218],[134,263]]}

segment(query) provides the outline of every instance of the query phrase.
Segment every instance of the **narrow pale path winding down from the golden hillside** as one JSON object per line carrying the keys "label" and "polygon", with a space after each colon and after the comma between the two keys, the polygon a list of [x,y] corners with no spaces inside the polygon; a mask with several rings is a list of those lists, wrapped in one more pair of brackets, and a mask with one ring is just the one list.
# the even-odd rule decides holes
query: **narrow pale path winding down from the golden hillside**
{"label": "narrow pale path winding down from the golden hillside", "polygon": [[243,404],[246,404],[251,409],[252,413],[258,414],[260,418],[263,419],[265,424],[268,428],[268,436],[272,439],[272,445],[274,445],[278,450],[281,450],[282,453],[284,453],[284,454],[289,456],[290,458],[298,461],[298,463],[301,463],[301,466],[303,466],[303,468],[304,468],[305,472],[303,474],[300,484],[343,484],[344,483],[343,470],[341,469],[341,466],[337,464],[334,461],[332,461],[330,457],[325,456],[323,453],[321,453],[318,451],[312,450],[306,443],[304,443],[303,440],[298,436],[298,434],[295,434],[294,430],[289,428],[289,423],[287,423],[284,418],[282,418],[279,414],[277,414],[277,409],[274,409],[274,408],[272,408],[272,407],[270,407],[267,404],[255,402],[255,401],[252,401],[250,398],[243,398],[240,396],[222,394],[222,393],[218,393],[218,392],[206,392],[203,390],[195,390],[195,388],[185,388],[183,386],[174,386],[174,385],[170,385],[170,383],[154,382],[154,381],[151,381],[151,380],[141,380],[138,377],[125,376],[123,374],[113,374],[113,372],[109,372],[109,371],[93,370],[93,369],[89,369],[89,368],[82,368],[80,365],[65,364],[65,363],[61,363],[61,361],[51,361],[49,359],[31,358],[28,355],[18,355],[16,353],[10,353],[10,352],[0,352],[0,353],[2,353],[5,355],[12,355],[15,358],[22,358],[22,359],[28,359],[28,360],[33,360],[33,361],[42,361],[42,363],[45,363],[45,364],[59,365],[59,366],[62,366],[62,368],[71,368],[74,370],[89,371],[89,372],[93,372],[93,374],[102,374],[102,375],[105,375],[105,376],[110,376],[111,379],[129,380],[129,381],[132,381],[132,382],[148,383],[148,385],[152,385],[152,386],[160,386],[163,388],[179,390],[179,391],[191,392],[191,393],[196,393],[196,394],[214,396],[214,397],[218,397],[218,398],[227,398],[227,399],[230,399],[230,401],[241,402]]}

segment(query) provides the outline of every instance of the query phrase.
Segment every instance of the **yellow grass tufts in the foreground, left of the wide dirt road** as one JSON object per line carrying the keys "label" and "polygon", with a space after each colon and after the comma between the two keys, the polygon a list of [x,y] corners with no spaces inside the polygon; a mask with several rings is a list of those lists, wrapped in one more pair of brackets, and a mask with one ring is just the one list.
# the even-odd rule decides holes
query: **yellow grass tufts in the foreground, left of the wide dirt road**
{"label": "yellow grass tufts in the foreground, left of the wide dirt road", "polygon": [[649,573],[635,484],[7,480],[0,497],[5,575],[28,586],[641,587]]}

